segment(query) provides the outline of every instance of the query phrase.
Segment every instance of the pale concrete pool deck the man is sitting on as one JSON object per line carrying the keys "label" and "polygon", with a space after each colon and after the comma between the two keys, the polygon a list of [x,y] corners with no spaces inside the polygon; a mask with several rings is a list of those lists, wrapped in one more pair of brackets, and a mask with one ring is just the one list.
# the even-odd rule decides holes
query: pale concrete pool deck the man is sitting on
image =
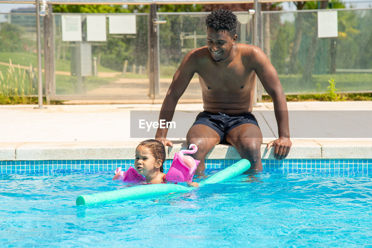
{"label": "pale concrete pool deck the man is sitting on", "polygon": [[[278,136],[273,104],[259,105],[253,114],[263,133],[261,155],[273,159],[273,149],[266,150]],[[134,159],[145,138],[131,138],[131,111],[157,115],[161,104],[35,106],[0,106],[0,160]],[[287,159],[372,158],[372,101],[288,102],[288,109],[293,144]],[[189,127],[203,105],[178,104],[176,110]],[[174,147],[166,149],[167,159],[186,146],[186,132],[171,136]],[[220,144],[206,158],[240,156]]]}

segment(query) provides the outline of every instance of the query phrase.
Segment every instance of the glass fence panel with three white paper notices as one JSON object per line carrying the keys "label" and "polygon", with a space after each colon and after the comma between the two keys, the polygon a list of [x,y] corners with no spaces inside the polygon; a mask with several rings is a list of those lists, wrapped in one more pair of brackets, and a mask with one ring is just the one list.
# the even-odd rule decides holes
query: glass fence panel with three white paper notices
{"label": "glass fence panel with three white paper notices", "polygon": [[54,24],[56,95],[149,95],[148,14],[55,14]]}

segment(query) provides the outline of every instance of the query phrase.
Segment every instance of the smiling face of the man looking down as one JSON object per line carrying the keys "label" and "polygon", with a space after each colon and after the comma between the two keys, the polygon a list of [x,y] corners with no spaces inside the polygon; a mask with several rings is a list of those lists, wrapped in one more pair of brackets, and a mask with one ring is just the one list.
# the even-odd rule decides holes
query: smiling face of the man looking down
{"label": "smiling face of the man looking down", "polygon": [[212,58],[217,62],[230,58],[232,45],[235,44],[236,38],[237,35],[231,38],[225,29],[215,31],[212,28],[208,28],[207,47],[212,54]]}

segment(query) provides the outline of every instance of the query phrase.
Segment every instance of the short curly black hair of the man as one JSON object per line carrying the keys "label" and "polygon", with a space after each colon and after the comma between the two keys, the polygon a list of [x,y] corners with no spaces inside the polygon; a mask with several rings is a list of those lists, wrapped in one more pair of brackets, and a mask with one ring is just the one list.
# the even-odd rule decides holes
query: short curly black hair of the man
{"label": "short curly black hair of the man", "polygon": [[215,31],[220,29],[227,30],[232,38],[236,34],[237,16],[230,10],[219,9],[210,13],[205,19],[207,28],[213,28]]}

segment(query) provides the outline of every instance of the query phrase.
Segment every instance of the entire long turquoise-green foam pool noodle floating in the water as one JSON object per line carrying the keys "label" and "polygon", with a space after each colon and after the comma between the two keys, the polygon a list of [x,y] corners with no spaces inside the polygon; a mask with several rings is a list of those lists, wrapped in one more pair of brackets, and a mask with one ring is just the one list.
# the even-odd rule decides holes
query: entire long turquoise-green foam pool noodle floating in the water
{"label": "entire long turquoise-green foam pool noodle floating in the water", "polygon": [[[224,182],[230,178],[240,175],[250,168],[250,162],[242,159],[237,163],[217,172],[211,177],[199,182],[199,185]],[[97,203],[112,203],[120,200],[134,200],[138,198],[165,195],[169,193],[182,193],[194,190],[194,187],[185,187],[178,184],[146,184],[120,190],[106,191],[101,193],[79,195],[76,198],[76,206],[92,205]]]}

